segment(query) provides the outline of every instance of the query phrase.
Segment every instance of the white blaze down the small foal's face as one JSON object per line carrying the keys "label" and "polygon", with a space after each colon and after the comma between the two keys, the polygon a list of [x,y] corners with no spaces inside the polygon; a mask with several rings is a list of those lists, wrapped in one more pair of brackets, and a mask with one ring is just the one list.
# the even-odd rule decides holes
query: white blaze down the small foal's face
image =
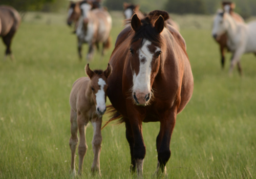
{"label": "white blaze down the small foal's face", "polygon": [[105,92],[104,92],[104,85],[106,82],[102,79],[99,78],[98,85],[100,86],[100,89],[96,93],[96,110],[99,108],[100,112],[103,113],[106,109],[106,104],[105,104]]}

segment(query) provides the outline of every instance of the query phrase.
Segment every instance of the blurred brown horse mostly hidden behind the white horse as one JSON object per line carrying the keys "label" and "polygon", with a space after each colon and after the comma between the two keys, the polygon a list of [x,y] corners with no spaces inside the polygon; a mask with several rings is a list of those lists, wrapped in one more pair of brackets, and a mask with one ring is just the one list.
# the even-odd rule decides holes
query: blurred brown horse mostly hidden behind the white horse
{"label": "blurred brown horse mostly hidden behind the white horse", "polygon": [[[234,3],[231,3],[230,1],[222,2],[222,9],[224,10],[224,6],[229,5],[230,6],[230,15],[233,17],[234,20],[237,22],[244,22],[243,17],[241,17],[239,14],[234,12],[234,8],[236,5]],[[222,69],[224,69],[225,65],[225,49],[229,51],[229,48],[227,47],[227,34],[223,34],[220,37],[217,38],[217,36],[214,36],[214,39],[220,44],[220,52],[221,52],[221,66]]]}

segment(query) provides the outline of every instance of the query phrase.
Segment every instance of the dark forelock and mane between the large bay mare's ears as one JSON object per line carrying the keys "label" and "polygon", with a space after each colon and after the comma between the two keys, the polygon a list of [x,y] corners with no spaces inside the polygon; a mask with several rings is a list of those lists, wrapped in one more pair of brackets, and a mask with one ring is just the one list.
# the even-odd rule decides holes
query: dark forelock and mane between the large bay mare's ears
{"label": "dark forelock and mane between the large bay mare's ears", "polygon": [[[141,42],[143,42],[143,39],[147,39],[155,43],[158,47],[161,47],[162,37],[154,28],[155,21],[158,19],[160,15],[163,16],[164,20],[167,20],[169,18],[169,15],[166,11],[155,10],[148,13],[148,15],[141,19],[141,27],[138,30],[136,30],[131,43],[139,39],[142,39]],[[131,20],[127,21],[127,24],[130,23]]]}

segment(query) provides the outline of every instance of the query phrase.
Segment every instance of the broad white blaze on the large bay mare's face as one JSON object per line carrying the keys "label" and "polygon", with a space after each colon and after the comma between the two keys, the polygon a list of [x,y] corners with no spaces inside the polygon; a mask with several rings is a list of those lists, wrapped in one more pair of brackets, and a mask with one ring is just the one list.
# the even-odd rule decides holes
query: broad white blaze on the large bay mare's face
{"label": "broad white blaze on the large bay mare's face", "polygon": [[[133,91],[135,92],[148,92],[150,93],[150,78],[151,78],[151,62],[154,53],[151,53],[148,46],[151,41],[145,40],[141,49],[139,49],[140,68],[139,73],[133,74]],[[155,52],[159,51],[157,48]]]}

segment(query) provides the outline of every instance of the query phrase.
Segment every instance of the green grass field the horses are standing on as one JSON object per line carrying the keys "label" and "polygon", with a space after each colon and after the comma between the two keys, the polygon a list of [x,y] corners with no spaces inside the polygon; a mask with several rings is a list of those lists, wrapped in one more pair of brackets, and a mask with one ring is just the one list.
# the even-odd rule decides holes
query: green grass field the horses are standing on
{"label": "green grass field the horses are standing on", "polygon": [[[92,69],[106,68],[122,29],[122,15],[112,16],[112,49],[103,60],[96,54]],[[86,61],[78,60],[76,37],[65,17],[28,14],[13,40],[16,60],[0,60],[0,178],[70,178],[69,94],[73,82],[85,76]],[[199,19],[200,29],[184,23],[189,18]],[[230,54],[221,71],[218,46],[209,29],[212,17],[176,19],[187,43],[195,88],[177,117],[168,178],[256,178],[256,57],[242,57],[243,77],[237,69],[228,76]],[[1,59],[4,48],[1,42]],[[87,50],[84,46],[84,55]],[[157,166],[158,131],[159,123],[143,124],[145,178],[152,178]],[[92,178],[92,132],[89,125],[84,178]],[[124,125],[105,127],[102,137],[102,178],[136,178],[129,172]]]}

